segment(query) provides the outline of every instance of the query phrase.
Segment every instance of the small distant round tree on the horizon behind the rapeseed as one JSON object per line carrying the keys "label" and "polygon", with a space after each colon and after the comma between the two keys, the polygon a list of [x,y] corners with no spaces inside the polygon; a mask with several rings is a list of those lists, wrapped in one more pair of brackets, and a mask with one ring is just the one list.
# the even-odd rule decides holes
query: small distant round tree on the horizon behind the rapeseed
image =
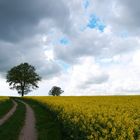
{"label": "small distant round tree on the horizon behind the rapeseed", "polygon": [[52,89],[49,91],[49,95],[60,96],[60,94],[62,94],[63,92],[64,91],[61,90],[60,87],[53,86]]}

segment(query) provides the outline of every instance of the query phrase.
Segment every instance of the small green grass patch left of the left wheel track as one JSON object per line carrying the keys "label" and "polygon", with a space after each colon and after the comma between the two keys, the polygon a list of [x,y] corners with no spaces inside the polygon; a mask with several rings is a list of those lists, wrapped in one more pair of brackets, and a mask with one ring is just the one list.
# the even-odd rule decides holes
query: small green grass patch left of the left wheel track
{"label": "small green grass patch left of the left wheel track", "polygon": [[0,118],[2,118],[12,107],[13,102],[11,99],[0,102]]}

